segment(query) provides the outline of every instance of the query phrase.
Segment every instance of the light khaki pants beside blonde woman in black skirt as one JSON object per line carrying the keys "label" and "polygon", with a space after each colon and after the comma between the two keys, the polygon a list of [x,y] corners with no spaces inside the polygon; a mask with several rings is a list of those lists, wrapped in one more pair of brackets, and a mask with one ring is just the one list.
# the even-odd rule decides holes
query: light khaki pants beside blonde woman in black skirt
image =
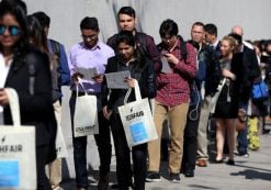
{"label": "light khaki pants beside blonde woman in black skirt", "polygon": [[207,124],[208,124],[208,116],[210,116],[210,102],[211,97],[205,97],[202,102],[201,107],[201,116],[197,130],[197,158],[208,158],[207,154]]}

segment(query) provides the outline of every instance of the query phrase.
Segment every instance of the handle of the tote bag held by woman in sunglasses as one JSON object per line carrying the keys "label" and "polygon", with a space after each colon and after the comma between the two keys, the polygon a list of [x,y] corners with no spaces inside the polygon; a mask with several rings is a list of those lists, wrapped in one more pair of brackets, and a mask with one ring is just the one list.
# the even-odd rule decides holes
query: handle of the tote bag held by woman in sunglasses
{"label": "handle of the tote bag held by woman in sunglasses", "polygon": [[11,111],[11,118],[12,118],[13,125],[16,127],[20,127],[21,126],[21,114],[20,114],[20,108],[19,108],[18,93],[13,88],[5,88],[4,91],[7,92],[7,96],[9,98],[10,111]]}

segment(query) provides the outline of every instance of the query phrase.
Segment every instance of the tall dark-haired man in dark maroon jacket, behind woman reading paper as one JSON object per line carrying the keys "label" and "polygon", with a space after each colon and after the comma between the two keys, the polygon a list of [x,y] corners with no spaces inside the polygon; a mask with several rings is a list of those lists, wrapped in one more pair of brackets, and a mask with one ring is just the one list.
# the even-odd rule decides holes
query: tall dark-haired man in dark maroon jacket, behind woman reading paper
{"label": "tall dark-haired man in dark maroon jacket, behind woman reading paper", "polygon": [[[155,65],[155,70],[158,71],[159,69],[161,69],[160,55],[159,52],[157,51],[154,38],[143,32],[136,31],[135,10],[132,7],[123,7],[120,9],[117,13],[117,19],[118,19],[118,26],[121,30],[133,32],[136,38],[137,48],[144,56],[147,56],[149,59],[153,60]],[[117,34],[114,34],[108,40],[106,44],[111,46],[117,54],[116,37]]]}

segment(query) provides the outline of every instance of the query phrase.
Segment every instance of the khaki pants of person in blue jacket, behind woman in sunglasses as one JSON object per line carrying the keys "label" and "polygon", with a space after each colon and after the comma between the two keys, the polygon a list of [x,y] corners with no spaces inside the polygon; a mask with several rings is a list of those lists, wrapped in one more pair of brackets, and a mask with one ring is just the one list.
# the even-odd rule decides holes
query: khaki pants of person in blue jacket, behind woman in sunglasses
{"label": "khaki pants of person in blue jacket, behind woman in sunglasses", "polygon": [[[54,111],[57,124],[60,124],[61,121],[61,105],[59,101],[56,101],[54,104]],[[49,182],[53,190],[58,190],[61,182],[61,158],[56,158],[48,166],[49,169]]]}

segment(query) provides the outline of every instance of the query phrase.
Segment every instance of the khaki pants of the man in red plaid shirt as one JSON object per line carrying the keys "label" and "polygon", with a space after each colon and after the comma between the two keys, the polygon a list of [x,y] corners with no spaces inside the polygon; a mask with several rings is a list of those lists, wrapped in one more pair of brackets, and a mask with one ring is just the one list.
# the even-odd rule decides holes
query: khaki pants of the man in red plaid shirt
{"label": "khaki pants of the man in red plaid shirt", "polygon": [[158,139],[148,143],[148,171],[159,171],[162,123],[168,115],[171,135],[169,152],[169,171],[173,174],[180,172],[183,152],[183,133],[187,124],[188,109],[189,103],[182,103],[176,107],[166,107],[158,101],[155,102],[154,118]]}

